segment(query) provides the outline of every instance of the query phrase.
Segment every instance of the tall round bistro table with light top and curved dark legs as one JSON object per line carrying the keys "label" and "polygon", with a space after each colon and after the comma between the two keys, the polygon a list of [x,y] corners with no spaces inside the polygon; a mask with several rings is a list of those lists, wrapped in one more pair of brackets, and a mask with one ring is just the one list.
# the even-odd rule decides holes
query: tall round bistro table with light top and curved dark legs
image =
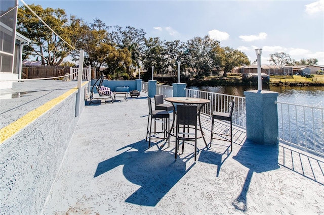
{"label": "tall round bistro table with light top and curved dark legs", "polygon": [[[175,103],[197,104],[197,106],[198,106],[198,121],[199,121],[199,128],[200,128],[200,132],[201,132],[201,136],[199,136],[197,138],[202,137],[204,139],[205,145],[207,146],[207,142],[205,139],[205,132],[203,131],[203,128],[201,127],[200,111],[204,105],[206,105],[207,103],[210,103],[211,101],[208,99],[204,99],[204,98],[192,98],[192,97],[168,97],[168,98],[165,98],[165,100],[171,102],[174,107],[172,128],[174,128],[174,121],[175,121],[175,114],[176,114],[175,113],[175,110],[176,110]],[[171,130],[170,130],[170,133],[171,133]]]}

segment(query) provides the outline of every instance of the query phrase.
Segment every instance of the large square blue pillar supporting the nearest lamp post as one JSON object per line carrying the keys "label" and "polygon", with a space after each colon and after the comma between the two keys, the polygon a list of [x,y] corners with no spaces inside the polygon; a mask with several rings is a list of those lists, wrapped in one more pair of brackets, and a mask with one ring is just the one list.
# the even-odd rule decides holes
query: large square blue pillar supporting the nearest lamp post
{"label": "large square blue pillar supporting the nearest lamp post", "polygon": [[246,96],[247,139],[261,145],[278,144],[278,93],[244,91]]}

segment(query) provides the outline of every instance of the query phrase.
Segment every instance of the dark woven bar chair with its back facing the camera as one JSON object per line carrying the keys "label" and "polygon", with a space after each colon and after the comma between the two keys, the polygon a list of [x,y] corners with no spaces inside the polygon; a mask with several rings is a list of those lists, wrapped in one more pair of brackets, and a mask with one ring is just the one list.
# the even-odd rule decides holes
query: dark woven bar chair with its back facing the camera
{"label": "dark woven bar chair with its back facing the camera", "polygon": [[[182,131],[180,131],[180,129]],[[176,159],[179,141],[182,140],[182,153],[185,141],[194,141],[194,160],[197,157],[197,105],[177,105]]]}

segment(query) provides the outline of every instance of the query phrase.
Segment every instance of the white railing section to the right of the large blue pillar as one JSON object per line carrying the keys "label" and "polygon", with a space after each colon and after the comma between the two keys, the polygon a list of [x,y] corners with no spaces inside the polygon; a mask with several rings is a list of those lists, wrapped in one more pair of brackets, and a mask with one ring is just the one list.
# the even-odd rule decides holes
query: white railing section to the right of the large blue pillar
{"label": "white railing section to the right of the large blue pillar", "polygon": [[324,108],[276,103],[279,140],[324,155]]}

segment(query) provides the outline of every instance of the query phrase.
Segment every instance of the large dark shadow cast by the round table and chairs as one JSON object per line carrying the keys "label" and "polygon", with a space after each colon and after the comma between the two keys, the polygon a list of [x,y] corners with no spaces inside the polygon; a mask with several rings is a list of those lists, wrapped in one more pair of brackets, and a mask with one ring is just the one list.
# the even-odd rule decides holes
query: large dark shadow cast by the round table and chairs
{"label": "large dark shadow cast by the round table and chairs", "polygon": [[100,162],[94,177],[124,165],[124,176],[141,186],[125,200],[133,204],[155,206],[194,165],[186,169],[186,163],[182,159],[175,160],[172,150],[146,151],[145,140],[119,150],[125,151]]}

